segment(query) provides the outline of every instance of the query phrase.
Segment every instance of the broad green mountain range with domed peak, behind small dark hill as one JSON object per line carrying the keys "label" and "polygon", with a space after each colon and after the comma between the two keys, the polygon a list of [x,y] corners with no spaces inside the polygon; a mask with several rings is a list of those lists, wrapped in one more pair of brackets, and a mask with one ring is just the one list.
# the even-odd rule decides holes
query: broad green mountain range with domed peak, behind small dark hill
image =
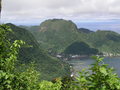
{"label": "broad green mountain range with domed peak, behind small dark hill", "polygon": [[75,42],[83,42],[89,45],[89,48],[98,50],[98,53],[120,55],[120,35],[116,32],[78,29],[72,21],[63,19],[49,19],[39,27],[40,29],[31,32],[41,47],[49,52],[63,53],[65,50],[69,51],[69,47]]}

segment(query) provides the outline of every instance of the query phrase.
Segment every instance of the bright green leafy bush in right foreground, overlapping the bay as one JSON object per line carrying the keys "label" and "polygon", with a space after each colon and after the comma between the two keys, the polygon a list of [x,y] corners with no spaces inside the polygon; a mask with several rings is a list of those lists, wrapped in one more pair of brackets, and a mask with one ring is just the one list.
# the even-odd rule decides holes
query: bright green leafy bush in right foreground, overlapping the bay
{"label": "bright green leafy bush in right foreground, overlapping the bay", "polygon": [[77,77],[77,89],[81,90],[120,90],[120,78],[114,69],[103,64],[103,58],[94,56],[96,60],[89,68],[82,70]]}

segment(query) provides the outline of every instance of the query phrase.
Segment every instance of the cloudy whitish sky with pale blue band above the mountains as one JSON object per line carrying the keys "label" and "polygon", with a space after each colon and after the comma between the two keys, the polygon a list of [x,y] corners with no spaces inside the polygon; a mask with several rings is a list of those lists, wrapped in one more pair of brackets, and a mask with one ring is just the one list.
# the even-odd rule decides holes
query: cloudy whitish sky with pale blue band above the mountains
{"label": "cloudy whitish sky with pale blue band above the mountains", "polygon": [[33,25],[59,18],[72,20],[78,27],[104,25],[103,29],[120,32],[120,0],[3,0],[2,4],[4,23]]}

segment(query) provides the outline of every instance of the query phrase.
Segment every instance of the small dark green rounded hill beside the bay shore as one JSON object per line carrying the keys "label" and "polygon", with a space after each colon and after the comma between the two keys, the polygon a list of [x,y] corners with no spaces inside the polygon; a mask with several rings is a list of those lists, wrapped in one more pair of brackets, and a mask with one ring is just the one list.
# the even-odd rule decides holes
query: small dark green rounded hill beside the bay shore
{"label": "small dark green rounded hill beside the bay shore", "polygon": [[74,42],[70,46],[68,46],[65,51],[65,54],[72,55],[96,55],[99,53],[97,49],[90,48],[84,42]]}

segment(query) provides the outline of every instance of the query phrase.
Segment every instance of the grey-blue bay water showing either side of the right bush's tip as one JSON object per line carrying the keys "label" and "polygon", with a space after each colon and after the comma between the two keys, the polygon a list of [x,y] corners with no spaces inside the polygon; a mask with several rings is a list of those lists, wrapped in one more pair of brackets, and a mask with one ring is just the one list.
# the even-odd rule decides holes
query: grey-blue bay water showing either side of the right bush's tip
{"label": "grey-blue bay water showing either side of the right bush's tip", "polygon": [[[88,68],[90,64],[94,63],[93,59],[80,59],[80,60],[70,60],[69,63],[73,65],[74,72],[77,73],[83,68]],[[120,57],[106,57],[104,59],[105,64],[109,64],[110,67],[113,67],[120,76]]]}

